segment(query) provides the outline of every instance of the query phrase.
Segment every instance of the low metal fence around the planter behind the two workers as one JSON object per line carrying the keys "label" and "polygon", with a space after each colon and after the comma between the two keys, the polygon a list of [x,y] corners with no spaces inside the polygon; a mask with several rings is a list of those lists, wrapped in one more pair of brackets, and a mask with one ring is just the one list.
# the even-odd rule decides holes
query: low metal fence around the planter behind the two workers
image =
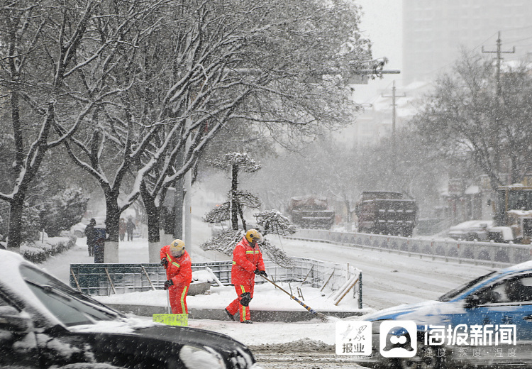
{"label": "low metal fence around the planter behind the two workers", "polygon": [[[310,258],[293,258],[292,268],[283,268],[265,260],[267,273],[275,282],[308,283],[312,287],[342,288],[353,275],[362,280],[362,271],[348,264],[328,263]],[[192,271],[210,268],[223,285],[231,284],[232,261],[192,263]],[[162,289],[165,269],[159,263],[140,264],[71,264],[70,286],[89,295],[109,296],[111,293],[142,292]],[[257,279],[260,282],[260,279]],[[213,282],[215,285],[215,283]],[[294,285],[293,287],[297,287]],[[354,286],[353,295],[362,307],[362,284]],[[294,292],[295,294],[295,292]]]}

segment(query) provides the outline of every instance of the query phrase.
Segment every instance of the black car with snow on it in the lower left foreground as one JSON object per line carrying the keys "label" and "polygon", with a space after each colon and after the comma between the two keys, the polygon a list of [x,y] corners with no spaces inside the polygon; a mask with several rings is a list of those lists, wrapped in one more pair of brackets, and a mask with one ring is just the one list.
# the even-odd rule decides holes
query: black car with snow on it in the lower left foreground
{"label": "black car with snow on it in the lower left foreground", "polygon": [[252,368],[223,334],[126,317],[0,250],[0,368]]}

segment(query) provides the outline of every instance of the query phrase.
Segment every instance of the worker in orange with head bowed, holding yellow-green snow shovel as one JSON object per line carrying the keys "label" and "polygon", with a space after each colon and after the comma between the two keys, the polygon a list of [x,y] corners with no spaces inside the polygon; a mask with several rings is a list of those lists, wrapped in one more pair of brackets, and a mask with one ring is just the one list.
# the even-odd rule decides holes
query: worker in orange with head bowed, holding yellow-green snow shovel
{"label": "worker in orange with head bowed, holding yellow-green snow shovel", "polygon": [[187,292],[192,282],[192,261],[182,240],[174,240],[160,251],[161,264],[166,269],[165,290],[170,295],[172,314],[188,314]]}

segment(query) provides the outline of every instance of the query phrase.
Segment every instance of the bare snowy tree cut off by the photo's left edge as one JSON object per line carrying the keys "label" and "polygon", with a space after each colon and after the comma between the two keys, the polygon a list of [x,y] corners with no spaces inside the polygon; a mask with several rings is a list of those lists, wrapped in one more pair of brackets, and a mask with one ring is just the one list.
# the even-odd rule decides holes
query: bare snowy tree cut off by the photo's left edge
{"label": "bare snowy tree cut off by the photo's left edge", "polygon": [[[80,66],[93,66],[89,23],[100,1],[15,1],[0,5],[0,109],[12,136],[7,247],[21,245],[23,205],[45,153],[82,124],[99,96],[77,90]],[[54,128],[62,133],[54,135]]]}

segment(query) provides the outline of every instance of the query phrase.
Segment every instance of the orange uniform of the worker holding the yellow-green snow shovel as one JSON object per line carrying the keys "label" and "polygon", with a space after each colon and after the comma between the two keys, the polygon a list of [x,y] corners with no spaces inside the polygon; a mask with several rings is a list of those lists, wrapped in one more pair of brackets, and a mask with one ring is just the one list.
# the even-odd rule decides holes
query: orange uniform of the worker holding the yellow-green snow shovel
{"label": "orange uniform of the worker holding the yellow-green snow shovel", "polygon": [[167,280],[174,282],[174,285],[168,287],[172,314],[188,314],[187,292],[192,282],[192,261],[189,253],[184,250],[183,255],[174,258],[170,253],[170,245],[167,245],[161,248],[160,258],[168,260],[168,265],[165,267],[166,277]]}

